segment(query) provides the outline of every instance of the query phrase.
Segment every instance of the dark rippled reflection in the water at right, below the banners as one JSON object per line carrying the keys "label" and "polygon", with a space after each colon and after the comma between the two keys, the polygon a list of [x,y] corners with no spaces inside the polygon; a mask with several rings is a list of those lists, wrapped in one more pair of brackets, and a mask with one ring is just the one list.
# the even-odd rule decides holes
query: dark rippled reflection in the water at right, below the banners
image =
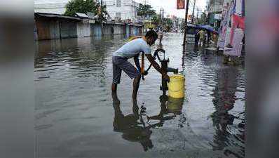
{"label": "dark rippled reflection in the water at right, below the banners", "polygon": [[[217,70],[216,86],[213,90],[212,100],[215,112],[212,113],[215,136],[212,144],[213,150],[224,150],[224,154],[235,157],[244,157],[244,131],[233,126],[235,119],[239,119],[230,113],[236,102],[239,71],[237,67],[223,67]],[[233,150],[232,150],[233,149]]]}

